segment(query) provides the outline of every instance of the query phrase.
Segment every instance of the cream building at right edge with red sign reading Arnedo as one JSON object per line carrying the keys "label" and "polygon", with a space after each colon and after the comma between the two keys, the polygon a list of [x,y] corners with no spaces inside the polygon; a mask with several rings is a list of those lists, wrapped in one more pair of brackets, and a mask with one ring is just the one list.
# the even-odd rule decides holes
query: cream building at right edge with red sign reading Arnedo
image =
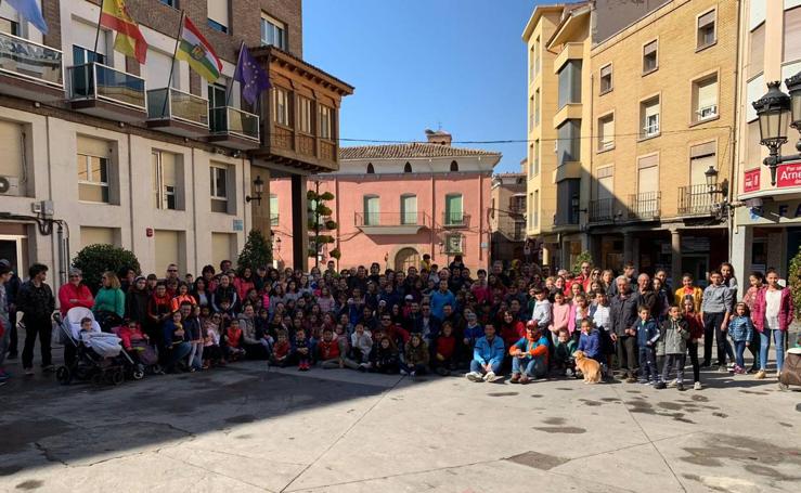
{"label": "cream building at right edge with red sign reading Arnedo", "polygon": [[[801,163],[778,167],[776,184],[762,164],[752,103],[767,92],[766,83],[801,72],[801,0],[742,0],[740,16],[741,74],[738,99],[735,230],[732,263],[742,278],[748,272],[774,268],[787,275],[789,260],[801,245]],[[797,154],[797,130],[787,131],[783,155]]]}

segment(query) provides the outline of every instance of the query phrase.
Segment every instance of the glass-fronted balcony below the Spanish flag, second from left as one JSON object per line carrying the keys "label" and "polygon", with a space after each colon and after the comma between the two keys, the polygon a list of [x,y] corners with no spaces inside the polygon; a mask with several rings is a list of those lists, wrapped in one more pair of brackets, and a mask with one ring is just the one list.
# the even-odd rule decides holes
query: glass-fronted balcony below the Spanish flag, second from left
{"label": "glass-fronted balcony below the Spanish flag, second from left", "polygon": [[67,99],[73,109],[112,120],[146,118],[144,79],[91,62],[67,68]]}

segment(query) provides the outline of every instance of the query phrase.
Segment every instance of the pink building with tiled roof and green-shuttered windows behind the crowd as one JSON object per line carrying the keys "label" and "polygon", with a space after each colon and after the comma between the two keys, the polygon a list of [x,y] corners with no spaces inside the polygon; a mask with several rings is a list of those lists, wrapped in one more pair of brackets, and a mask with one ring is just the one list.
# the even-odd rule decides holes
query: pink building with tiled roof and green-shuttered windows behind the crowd
{"label": "pink building with tiled roof and green-shuttered windows behind the crowd", "polygon": [[[338,268],[379,262],[383,268],[419,267],[423,255],[447,265],[462,255],[474,272],[490,254],[489,206],[492,169],[501,154],[451,146],[451,135],[426,130],[428,142],[341,147],[339,171],[308,180],[308,187],[334,194],[328,203]],[[292,263],[290,181],[272,180],[270,210],[275,258]]]}

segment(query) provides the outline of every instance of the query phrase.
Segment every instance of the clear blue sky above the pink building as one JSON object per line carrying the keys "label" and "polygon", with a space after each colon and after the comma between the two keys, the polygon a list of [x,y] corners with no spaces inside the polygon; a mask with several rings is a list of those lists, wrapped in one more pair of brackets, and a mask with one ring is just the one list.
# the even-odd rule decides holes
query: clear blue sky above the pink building
{"label": "clear blue sky above the pink building", "polygon": [[[303,59],[356,87],[343,139],[526,139],[526,46],[533,0],[305,0]],[[343,145],[361,145],[344,141]],[[516,171],[526,144],[454,144],[503,153]]]}

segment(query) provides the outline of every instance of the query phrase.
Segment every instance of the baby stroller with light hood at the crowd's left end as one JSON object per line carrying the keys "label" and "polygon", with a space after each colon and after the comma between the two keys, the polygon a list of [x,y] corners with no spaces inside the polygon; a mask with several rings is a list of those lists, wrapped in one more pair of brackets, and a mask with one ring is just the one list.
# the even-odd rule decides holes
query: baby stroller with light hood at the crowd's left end
{"label": "baby stroller with light hood at the crowd's left end", "polygon": [[[80,330],[80,321],[83,319],[92,320],[92,330],[89,333]],[[75,348],[74,360],[65,362],[55,372],[60,384],[69,385],[77,379],[91,380],[96,386],[103,382],[117,386],[125,380],[126,360],[130,365],[133,365],[133,361],[122,351],[117,336],[101,332],[91,310],[82,307],[70,309],[60,329],[59,342]]]}

